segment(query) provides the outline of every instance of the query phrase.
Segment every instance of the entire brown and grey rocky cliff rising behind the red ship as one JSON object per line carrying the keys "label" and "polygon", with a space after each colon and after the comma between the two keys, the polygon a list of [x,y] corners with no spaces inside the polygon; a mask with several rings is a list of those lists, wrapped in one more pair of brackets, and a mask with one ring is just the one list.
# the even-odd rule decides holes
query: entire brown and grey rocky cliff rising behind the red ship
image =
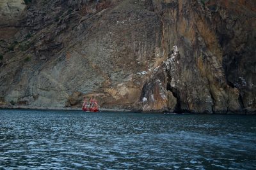
{"label": "entire brown and grey rocky cliff rising behind the red ship", "polygon": [[0,37],[1,103],[79,108],[95,96],[103,108],[256,111],[255,1],[20,5],[1,15],[15,24]]}

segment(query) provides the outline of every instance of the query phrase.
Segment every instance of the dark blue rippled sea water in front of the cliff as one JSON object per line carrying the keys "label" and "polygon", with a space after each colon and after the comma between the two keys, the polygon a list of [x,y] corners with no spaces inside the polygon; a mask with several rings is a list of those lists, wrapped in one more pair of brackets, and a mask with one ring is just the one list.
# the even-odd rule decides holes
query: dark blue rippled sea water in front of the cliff
{"label": "dark blue rippled sea water in front of the cliff", "polygon": [[0,110],[0,169],[256,169],[256,117]]}

